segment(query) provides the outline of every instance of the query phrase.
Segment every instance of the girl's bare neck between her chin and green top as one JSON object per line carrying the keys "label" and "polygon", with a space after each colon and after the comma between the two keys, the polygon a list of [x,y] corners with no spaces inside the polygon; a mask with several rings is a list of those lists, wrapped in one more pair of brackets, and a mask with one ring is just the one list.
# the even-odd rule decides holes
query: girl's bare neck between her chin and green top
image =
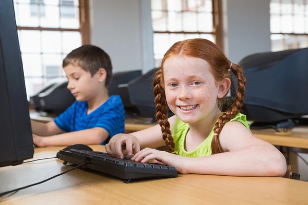
{"label": "girl's bare neck between her chin and green top", "polygon": [[204,119],[189,124],[189,135],[205,139],[222,113],[223,112],[216,108],[214,112],[211,112],[211,114],[206,116]]}

